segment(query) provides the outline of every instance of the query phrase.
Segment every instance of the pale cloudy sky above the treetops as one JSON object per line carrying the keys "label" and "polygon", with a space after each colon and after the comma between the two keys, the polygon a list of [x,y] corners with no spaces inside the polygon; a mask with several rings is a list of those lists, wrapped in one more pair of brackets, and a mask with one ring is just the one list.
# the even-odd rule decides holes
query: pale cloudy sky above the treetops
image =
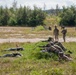
{"label": "pale cloudy sky above the treetops", "polygon": [[[33,9],[33,6],[36,5],[39,8],[44,9],[51,9],[56,8],[56,5],[58,4],[59,8],[62,8],[62,6],[71,6],[76,5],[76,0],[15,0],[17,1],[17,7],[21,6],[29,6]],[[8,6],[11,7],[14,0],[0,0],[0,6]]]}

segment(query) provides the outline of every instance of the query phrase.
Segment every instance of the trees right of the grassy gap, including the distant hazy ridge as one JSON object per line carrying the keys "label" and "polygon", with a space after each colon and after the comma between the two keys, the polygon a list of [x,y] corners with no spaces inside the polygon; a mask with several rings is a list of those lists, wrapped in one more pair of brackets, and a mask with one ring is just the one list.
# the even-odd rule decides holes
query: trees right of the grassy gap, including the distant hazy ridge
{"label": "trees right of the grassy gap, including the distant hazy ridge", "polygon": [[[71,5],[70,7],[63,6],[62,9],[56,5],[56,9],[46,10],[46,13],[52,16],[60,18],[60,26],[76,26],[76,6]],[[56,18],[55,17],[55,18]]]}

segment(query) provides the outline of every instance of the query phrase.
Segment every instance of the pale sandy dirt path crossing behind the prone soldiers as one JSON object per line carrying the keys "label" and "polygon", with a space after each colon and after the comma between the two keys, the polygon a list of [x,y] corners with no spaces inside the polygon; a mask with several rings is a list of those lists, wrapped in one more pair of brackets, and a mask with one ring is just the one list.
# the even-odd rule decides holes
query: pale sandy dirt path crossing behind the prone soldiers
{"label": "pale sandy dirt path crossing behind the prone soldiers", "polygon": [[[33,38],[33,39],[26,39],[26,38],[7,38],[7,39],[2,39],[0,38],[0,43],[6,43],[6,42],[39,42],[42,40],[42,38]],[[59,38],[60,42],[63,42],[62,38]],[[66,42],[76,42],[76,37],[67,37]]]}

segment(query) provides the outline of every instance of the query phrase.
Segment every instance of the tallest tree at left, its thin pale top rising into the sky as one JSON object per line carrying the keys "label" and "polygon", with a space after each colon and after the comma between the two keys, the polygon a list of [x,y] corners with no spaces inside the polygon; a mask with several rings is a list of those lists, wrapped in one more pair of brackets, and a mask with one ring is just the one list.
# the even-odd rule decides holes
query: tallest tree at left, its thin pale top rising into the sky
{"label": "tallest tree at left, its thin pale top rising into the sky", "polygon": [[12,7],[9,9],[10,18],[8,20],[8,25],[14,26],[17,24],[17,1],[14,0]]}

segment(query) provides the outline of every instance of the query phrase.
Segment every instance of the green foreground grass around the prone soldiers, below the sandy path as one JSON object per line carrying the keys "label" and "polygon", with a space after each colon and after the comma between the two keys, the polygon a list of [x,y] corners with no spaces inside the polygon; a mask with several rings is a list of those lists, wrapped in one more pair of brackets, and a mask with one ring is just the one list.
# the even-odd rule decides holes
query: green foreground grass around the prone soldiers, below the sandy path
{"label": "green foreground grass around the prone soldiers, below the sandy path", "polygon": [[[76,43],[63,43],[67,50],[71,50],[73,61],[57,60],[56,55],[49,57],[48,53],[40,53],[39,45],[46,43],[18,43],[24,48],[20,51],[22,57],[0,58],[0,75],[76,75]],[[13,53],[4,49],[15,47],[15,43],[0,44],[0,55]],[[15,51],[17,52],[17,51]]]}

